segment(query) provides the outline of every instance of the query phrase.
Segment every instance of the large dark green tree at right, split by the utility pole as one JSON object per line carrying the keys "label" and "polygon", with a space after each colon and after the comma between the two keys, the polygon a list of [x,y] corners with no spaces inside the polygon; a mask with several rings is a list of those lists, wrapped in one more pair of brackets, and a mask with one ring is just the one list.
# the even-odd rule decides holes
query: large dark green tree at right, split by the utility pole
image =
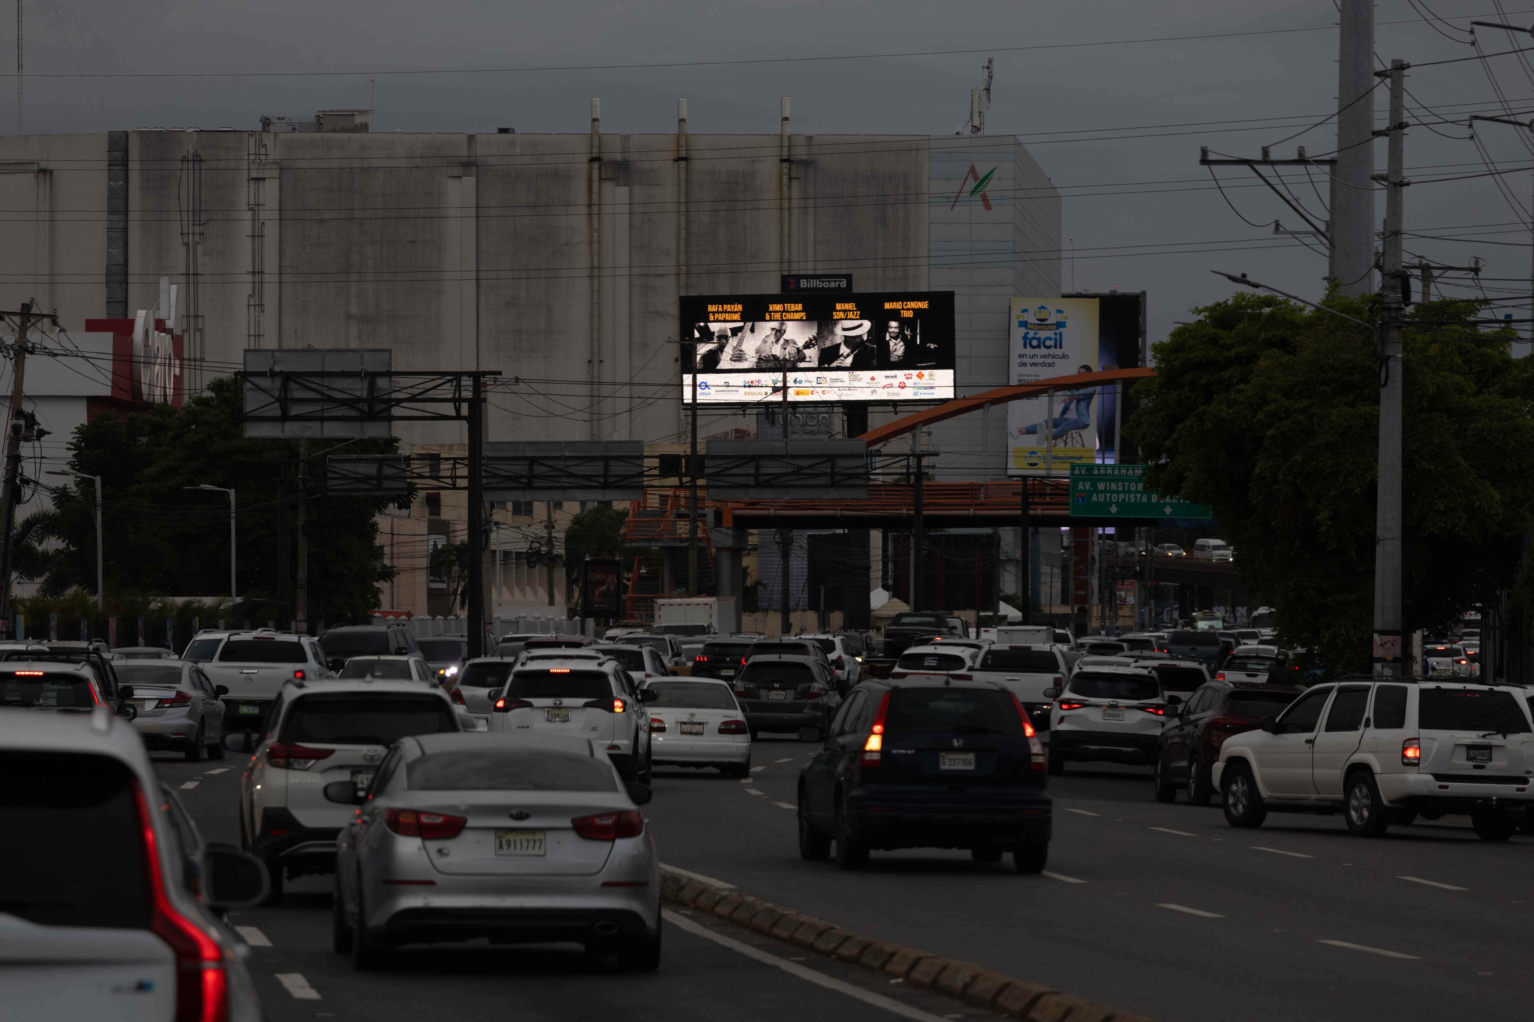
{"label": "large dark green tree at right, split by the utility pole", "polygon": [[[1367,300],[1328,305],[1373,322]],[[1534,519],[1534,372],[1473,302],[1413,308],[1405,331],[1404,614],[1439,630],[1509,585]],[[1255,593],[1295,645],[1367,670],[1382,366],[1368,331],[1235,296],[1155,345],[1126,432],[1146,483],[1212,504]]]}

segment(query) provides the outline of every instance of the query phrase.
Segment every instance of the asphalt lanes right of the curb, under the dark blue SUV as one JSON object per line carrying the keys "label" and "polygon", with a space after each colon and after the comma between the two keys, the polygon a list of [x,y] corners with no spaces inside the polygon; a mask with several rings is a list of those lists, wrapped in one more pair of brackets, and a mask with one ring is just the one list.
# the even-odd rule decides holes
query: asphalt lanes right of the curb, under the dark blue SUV
{"label": "asphalt lanes right of the curb, under the dark blue SUV", "polygon": [[798,858],[810,754],[764,737],[749,781],[661,774],[652,820],[666,861],[1150,1016],[1396,1019],[1467,1002],[1496,1016],[1534,993],[1517,950],[1528,838],[1493,846],[1419,824],[1365,841],[1339,817],[1279,814],[1236,830],[1218,807],[1154,801],[1149,771],[1094,766],[1051,778],[1045,876],[936,849],[876,852],[868,872],[844,873]]}

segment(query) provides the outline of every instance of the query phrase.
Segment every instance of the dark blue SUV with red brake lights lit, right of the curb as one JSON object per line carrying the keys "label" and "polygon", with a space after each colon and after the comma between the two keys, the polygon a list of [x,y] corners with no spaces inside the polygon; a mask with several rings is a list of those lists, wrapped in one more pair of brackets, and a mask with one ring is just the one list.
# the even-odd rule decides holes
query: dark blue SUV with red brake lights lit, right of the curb
{"label": "dark blue SUV with red brake lights lit, right of the curb", "polygon": [[853,688],[799,771],[799,855],[862,869],[870,849],[1005,852],[1020,873],[1049,857],[1045,749],[994,682],[870,680]]}

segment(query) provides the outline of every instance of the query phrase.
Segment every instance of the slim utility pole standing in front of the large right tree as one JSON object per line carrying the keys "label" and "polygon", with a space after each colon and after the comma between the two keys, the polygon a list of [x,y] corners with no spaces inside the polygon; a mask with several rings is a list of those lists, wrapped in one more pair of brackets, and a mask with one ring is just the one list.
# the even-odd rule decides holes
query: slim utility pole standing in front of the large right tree
{"label": "slim utility pole standing in front of the large right tree", "polygon": [[1401,316],[1405,271],[1401,262],[1405,164],[1404,60],[1390,61],[1390,135],[1385,172],[1385,250],[1381,264],[1379,484],[1374,504],[1374,674],[1401,674]]}

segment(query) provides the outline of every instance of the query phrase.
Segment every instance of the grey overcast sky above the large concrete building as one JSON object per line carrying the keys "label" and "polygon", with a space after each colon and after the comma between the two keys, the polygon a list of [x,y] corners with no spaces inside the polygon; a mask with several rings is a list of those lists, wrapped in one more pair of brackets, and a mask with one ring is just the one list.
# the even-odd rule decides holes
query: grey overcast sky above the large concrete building
{"label": "grey overcast sky above the large concrete building", "polygon": [[[1525,5],[1528,0],[1525,0]],[[14,70],[9,3],[0,17],[5,70]],[[1502,0],[1514,23],[1534,25],[1534,9]],[[1376,54],[1420,63],[1474,55],[1470,17],[1497,20],[1497,0],[1433,0],[1447,18],[1428,25],[1420,0],[1381,0]],[[1149,291],[1150,339],[1166,336],[1189,310],[1230,293],[1210,268],[1249,273],[1315,297],[1325,259],[1272,221],[1302,227],[1247,170],[1223,169],[1226,204],[1198,165],[1198,147],[1275,156],[1296,144],[1312,155],[1335,144],[1330,124],[1278,146],[1336,109],[1336,9],[1332,0],[1192,3],[706,3],[701,0],[558,3],[523,0],[26,0],[28,132],[94,132],[132,127],[250,129],[262,113],[311,115],[325,107],[365,107],[370,75],[276,77],[272,72],[377,72],[371,75],[373,130],[584,132],[591,97],[603,100],[611,132],[675,127],[675,100],[689,100],[693,132],[776,132],[778,97],[793,100],[795,132],[948,133],[968,112],[969,87],[988,52],[996,84],[988,133],[1016,133],[1066,195],[1066,234],[1077,259],[1063,271],[1071,290]],[[1316,29],[1316,31],[1289,31]],[[1154,41],[1164,37],[1252,32],[1226,38]],[[1256,34],[1261,32],[1261,34]],[[1480,51],[1534,46],[1528,34],[1480,29]],[[1129,41],[1118,41],[1129,40]],[[1150,40],[1150,41],[1140,41]],[[1519,41],[1522,40],[1522,41]],[[1077,43],[1109,43],[1074,46]],[[974,54],[877,57],[698,66],[742,58],[910,54],[950,49],[1048,47]],[[1420,67],[1408,89],[1445,118],[1534,115],[1534,66],[1528,55]],[[488,74],[390,74],[414,69],[548,67],[670,63],[692,66]],[[1494,83],[1488,80],[1488,66]],[[123,72],[252,72],[249,77],[92,78]],[[15,78],[0,80],[0,126],[15,130]],[[1381,89],[1378,113],[1385,115]],[[1413,104],[1416,121],[1431,120]],[[1264,120],[1269,118],[1269,120]],[[1407,248],[1467,265],[1485,259],[1488,294],[1528,294],[1531,149],[1528,132],[1479,126],[1496,165],[1523,167],[1430,184],[1434,176],[1485,175],[1467,130],[1413,129],[1407,167],[1417,184],[1405,193],[1407,225],[1457,241],[1411,237]],[[1384,167],[1384,142],[1376,150]],[[1316,190],[1295,179],[1299,199],[1319,219]],[[1509,202],[1519,202],[1514,211]],[[1376,204],[1384,216],[1384,201]],[[1502,277],[1502,280],[1496,280]],[[1460,274],[1459,279],[1468,279]],[[1457,288],[1456,294],[1465,294]],[[1520,317],[1526,316],[1522,310]]]}

